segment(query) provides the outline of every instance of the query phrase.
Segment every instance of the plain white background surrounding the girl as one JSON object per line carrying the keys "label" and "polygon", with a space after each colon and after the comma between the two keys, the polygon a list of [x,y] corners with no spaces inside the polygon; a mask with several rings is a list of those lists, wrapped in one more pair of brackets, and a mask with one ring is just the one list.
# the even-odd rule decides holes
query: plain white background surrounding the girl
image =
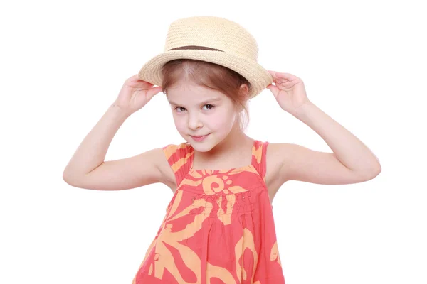
{"label": "plain white background surrounding the girl", "polygon": [[[258,62],[302,78],[309,99],[381,162],[368,182],[291,181],[279,190],[273,212],[286,283],[427,283],[421,2],[1,4],[0,283],[132,282],[172,191],[84,190],[62,174],[123,82],[162,52],[169,24],[187,16],[247,28]],[[253,138],[330,151],[268,89],[250,113]],[[181,141],[160,93],[125,121],[106,160]]]}

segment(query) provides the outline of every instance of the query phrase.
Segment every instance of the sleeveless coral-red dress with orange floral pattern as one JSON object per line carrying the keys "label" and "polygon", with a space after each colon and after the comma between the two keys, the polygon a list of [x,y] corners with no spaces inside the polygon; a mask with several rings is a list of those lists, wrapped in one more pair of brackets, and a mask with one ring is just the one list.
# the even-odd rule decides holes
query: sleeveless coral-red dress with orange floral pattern
{"label": "sleeveless coral-red dress with orange floral pattern", "polygon": [[192,168],[189,143],[163,148],[178,187],[132,284],[285,284],[267,146],[254,141],[251,165],[229,170]]}

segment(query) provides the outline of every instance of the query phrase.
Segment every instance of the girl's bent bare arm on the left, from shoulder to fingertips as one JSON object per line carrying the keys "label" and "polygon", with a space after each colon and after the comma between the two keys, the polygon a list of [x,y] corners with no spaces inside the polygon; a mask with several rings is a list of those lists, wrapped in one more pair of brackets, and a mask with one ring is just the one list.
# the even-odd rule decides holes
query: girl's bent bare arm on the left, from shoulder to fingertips
{"label": "girl's bent bare arm on the left, from shoulder to fingertips", "polygon": [[[112,138],[123,122],[144,107],[162,87],[130,77],[119,97],[83,139],[63,172],[69,185],[90,190],[126,190],[154,182],[170,183],[162,148],[120,160],[105,161]],[[168,169],[169,168],[169,169]],[[172,171],[172,169],[170,169]]]}

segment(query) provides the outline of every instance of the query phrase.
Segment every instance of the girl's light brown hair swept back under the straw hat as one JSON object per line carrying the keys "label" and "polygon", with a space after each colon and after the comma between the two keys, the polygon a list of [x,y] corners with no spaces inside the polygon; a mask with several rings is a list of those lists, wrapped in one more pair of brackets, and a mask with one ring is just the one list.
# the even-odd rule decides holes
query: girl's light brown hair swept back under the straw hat
{"label": "girl's light brown hair swept back under the straw hat", "polygon": [[241,92],[241,85],[248,86],[248,93],[251,93],[252,87],[248,80],[238,72],[212,62],[185,58],[165,63],[162,67],[162,76],[164,94],[167,94],[167,89],[182,78],[199,86],[222,92],[233,101],[236,107],[242,107],[242,111],[238,112],[238,124],[241,131],[245,131],[249,123],[248,97]]}

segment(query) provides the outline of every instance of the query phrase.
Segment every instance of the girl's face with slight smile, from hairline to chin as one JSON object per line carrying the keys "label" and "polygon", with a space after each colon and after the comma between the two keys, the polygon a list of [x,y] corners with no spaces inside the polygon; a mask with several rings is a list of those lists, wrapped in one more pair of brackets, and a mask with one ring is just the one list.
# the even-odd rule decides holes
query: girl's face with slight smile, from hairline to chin
{"label": "girl's face with slight smile, from hairline to chin", "polygon": [[225,94],[189,82],[169,88],[167,99],[176,129],[197,151],[209,151],[223,141],[237,118],[236,107]]}

